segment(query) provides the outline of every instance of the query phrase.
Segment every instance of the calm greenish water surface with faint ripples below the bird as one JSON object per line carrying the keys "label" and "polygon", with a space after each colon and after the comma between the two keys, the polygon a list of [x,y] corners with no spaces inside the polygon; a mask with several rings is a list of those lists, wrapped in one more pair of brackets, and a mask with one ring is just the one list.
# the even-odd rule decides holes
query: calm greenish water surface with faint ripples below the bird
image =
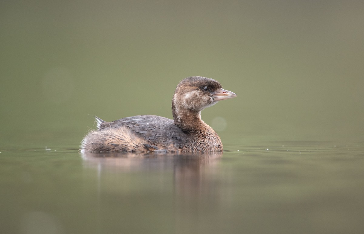
{"label": "calm greenish water surface with faint ripples below the bird", "polygon": [[203,155],[1,150],[1,230],[363,233],[363,145],[256,143]]}

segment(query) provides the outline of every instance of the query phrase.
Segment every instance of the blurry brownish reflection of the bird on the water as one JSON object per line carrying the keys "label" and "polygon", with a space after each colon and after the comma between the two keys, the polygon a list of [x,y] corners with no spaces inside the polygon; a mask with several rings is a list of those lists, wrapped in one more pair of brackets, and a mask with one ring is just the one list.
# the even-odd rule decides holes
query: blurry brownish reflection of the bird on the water
{"label": "blurry brownish reflection of the bird on the water", "polygon": [[[222,153],[209,154],[162,154],[162,153],[80,153],[85,168],[98,170],[98,193],[104,172],[133,173],[155,172],[161,180],[153,185],[163,191],[172,191],[171,209],[174,210],[176,233],[192,233],[204,216],[201,207],[215,206],[223,200],[223,191],[216,184]],[[166,184],[165,175],[173,172],[173,184]],[[118,177],[118,176],[116,176]],[[110,177],[109,177],[110,179]],[[119,181],[114,185],[119,184]],[[172,187],[172,190],[170,189]],[[105,188],[104,188],[105,189]],[[145,191],[145,190],[144,190]],[[185,225],[189,223],[189,225]]]}

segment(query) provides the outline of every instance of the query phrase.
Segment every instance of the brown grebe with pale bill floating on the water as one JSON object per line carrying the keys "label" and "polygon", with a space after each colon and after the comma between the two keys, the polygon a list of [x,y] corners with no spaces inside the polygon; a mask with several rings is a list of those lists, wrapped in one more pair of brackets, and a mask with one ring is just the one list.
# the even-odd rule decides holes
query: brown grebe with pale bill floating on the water
{"label": "brown grebe with pale bill floating on the water", "polygon": [[222,152],[217,133],[201,119],[201,110],[236,97],[210,78],[193,76],[177,85],[172,99],[173,120],[141,115],[105,122],[82,140],[81,152]]}

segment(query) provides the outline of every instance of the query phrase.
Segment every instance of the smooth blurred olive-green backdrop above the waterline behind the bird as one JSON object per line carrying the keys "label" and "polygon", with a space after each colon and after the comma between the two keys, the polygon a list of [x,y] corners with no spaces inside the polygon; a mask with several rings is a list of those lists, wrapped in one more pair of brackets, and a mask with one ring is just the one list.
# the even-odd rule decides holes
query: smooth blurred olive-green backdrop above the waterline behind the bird
{"label": "smooth blurred olive-green backdrop above the waterline behind the bird", "polygon": [[[77,149],[106,121],[172,118],[189,76],[229,145],[363,141],[363,1],[1,1],[0,141]],[[216,125],[216,126],[215,126]]]}

